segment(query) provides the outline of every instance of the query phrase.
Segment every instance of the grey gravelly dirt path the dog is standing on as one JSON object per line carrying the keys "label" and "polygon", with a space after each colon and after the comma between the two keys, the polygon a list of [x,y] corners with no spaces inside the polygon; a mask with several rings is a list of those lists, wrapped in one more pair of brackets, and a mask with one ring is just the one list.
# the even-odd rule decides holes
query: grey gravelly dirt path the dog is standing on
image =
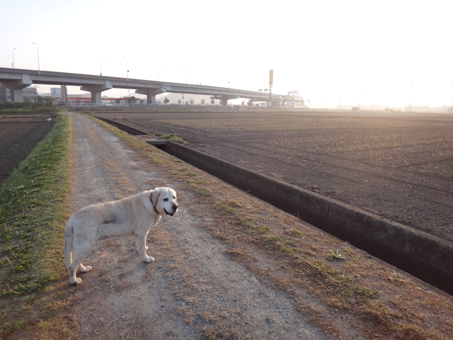
{"label": "grey gravelly dirt path the dog is standing on", "polygon": [[91,118],[68,115],[74,212],[156,186],[174,188],[180,205],[149,234],[151,264],[141,261],[133,238],[96,245],[84,261],[93,270],[79,273],[83,282],[70,297],[80,326],[76,339],[206,339],[213,324],[217,339],[328,339],[304,322],[289,296],[260,282],[226,254],[224,243],[197,227],[212,217],[170,173]]}

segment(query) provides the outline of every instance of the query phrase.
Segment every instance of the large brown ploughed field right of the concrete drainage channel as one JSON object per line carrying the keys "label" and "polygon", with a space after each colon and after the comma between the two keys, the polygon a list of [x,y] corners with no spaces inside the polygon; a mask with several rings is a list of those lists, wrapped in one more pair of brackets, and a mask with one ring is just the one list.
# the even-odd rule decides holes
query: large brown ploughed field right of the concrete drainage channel
{"label": "large brown ploughed field right of the concrete drainage channel", "polygon": [[453,116],[96,113],[453,241]]}

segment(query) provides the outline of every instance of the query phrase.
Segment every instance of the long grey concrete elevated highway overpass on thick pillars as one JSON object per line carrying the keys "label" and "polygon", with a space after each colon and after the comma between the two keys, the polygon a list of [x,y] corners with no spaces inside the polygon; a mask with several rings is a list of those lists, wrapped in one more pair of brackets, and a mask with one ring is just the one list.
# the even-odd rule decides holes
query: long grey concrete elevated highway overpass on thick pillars
{"label": "long grey concrete elevated highway overpass on thick pillars", "polygon": [[91,101],[101,105],[101,94],[110,89],[133,89],[137,94],[147,96],[148,103],[156,102],[157,94],[198,94],[220,99],[226,105],[229,100],[246,98],[249,101],[266,101],[273,106],[285,106],[292,101],[302,106],[298,96],[266,94],[263,92],[229,89],[225,87],[171,83],[142,79],[95,76],[91,74],[74,74],[64,72],[37,71],[32,69],[9,69],[0,67],[0,84],[11,91],[11,100],[23,102],[23,89],[32,84],[80,86],[82,91],[91,93]]}

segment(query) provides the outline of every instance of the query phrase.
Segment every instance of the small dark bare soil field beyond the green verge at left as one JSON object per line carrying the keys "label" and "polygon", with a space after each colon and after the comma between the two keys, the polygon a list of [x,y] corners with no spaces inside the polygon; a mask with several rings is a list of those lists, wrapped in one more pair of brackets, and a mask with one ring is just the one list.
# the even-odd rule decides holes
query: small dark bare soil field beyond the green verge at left
{"label": "small dark bare soil field beyond the green verge at left", "polygon": [[52,114],[0,117],[0,186],[52,129],[52,120],[47,120],[52,117]]}

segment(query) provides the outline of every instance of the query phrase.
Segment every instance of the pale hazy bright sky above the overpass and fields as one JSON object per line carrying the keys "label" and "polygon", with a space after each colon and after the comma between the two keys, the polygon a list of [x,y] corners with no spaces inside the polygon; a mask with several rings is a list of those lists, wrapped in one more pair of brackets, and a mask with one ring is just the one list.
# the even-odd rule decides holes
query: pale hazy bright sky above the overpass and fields
{"label": "pale hazy bright sky above the overpass and fields", "polygon": [[14,57],[16,68],[38,69],[36,42],[41,70],[102,68],[126,77],[128,67],[130,78],[258,91],[274,69],[273,93],[299,91],[311,106],[356,106],[359,98],[451,106],[452,7],[450,0],[0,0],[0,67]]}

